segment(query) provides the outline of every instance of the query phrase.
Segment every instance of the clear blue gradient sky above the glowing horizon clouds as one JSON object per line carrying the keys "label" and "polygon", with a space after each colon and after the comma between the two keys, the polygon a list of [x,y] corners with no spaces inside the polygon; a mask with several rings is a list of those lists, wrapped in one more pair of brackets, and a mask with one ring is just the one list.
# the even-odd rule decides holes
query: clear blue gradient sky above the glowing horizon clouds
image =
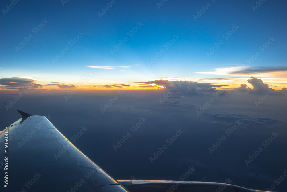
{"label": "clear blue gradient sky above the glowing horizon clouds", "polygon": [[[286,48],[286,2],[265,1],[253,11],[256,1],[167,1],[158,8],[160,1],[115,1],[116,3],[101,18],[98,12],[111,1],[70,0],[64,6],[57,1],[19,1],[5,15],[1,13],[1,78],[25,77],[37,79],[46,85],[61,82],[79,85],[81,79],[90,73],[87,66],[112,66],[115,69],[97,69],[96,75],[88,80],[87,86],[126,84],[146,82],[163,77],[184,78],[186,71],[192,76],[187,79],[214,84],[240,85],[250,76],[260,77],[265,83],[284,87],[277,77],[284,77],[287,59]],[[196,21],[193,15],[211,6]],[[5,9],[10,1],[2,1]],[[42,19],[49,21],[36,34],[32,29]],[[127,32],[144,25],[132,36]],[[227,40],[222,36],[233,25],[239,28]],[[55,64],[51,59],[68,42],[77,36],[78,31],[85,33],[82,38]],[[15,46],[29,34],[33,38],[16,52]],[[181,37],[165,50],[165,53],[148,67],[147,62],[164,48],[164,44],[174,34]],[[128,41],[114,55],[110,50],[114,45],[128,37]],[[253,74],[241,70],[247,59],[259,51],[269,37],[276,40],[249,66]],[[209,58],[206,52],[220,39],[224,43]],[[119,67],[129,66],[129,67]],[[240,71],[236,75],[229,74]],[[265,68],[264,68],[265,67]],[[266,68],[267,67],[267,68]],[[274,67],[281,67],[280,70]],[[208,74],[214,69],[226,73]],[[230,68],[222,70],[221,68]],[[259,72],[266,69],[264,73]],[[283,70],[282,70],[283,69]],[[270,74],[270,72],[272,73]],[[214,78],[236,77],[233,82],[212,81]],[[237,79],[237,77],[244,77]],[[222,80],[222,79],[221,79]],[[286,78],[285,78],[286,80]],[[235,86],[235,87],[236,87]]]}

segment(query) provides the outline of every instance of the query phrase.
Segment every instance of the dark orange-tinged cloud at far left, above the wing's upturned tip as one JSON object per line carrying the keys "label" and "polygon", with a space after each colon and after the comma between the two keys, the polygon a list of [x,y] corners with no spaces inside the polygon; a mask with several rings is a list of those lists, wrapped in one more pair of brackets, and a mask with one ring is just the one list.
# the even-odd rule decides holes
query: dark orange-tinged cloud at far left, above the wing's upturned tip
{"label": "dark orange-tinged cloud at far left, above the wing's upturned tip", "polygon": [[[8,88],[18,88],[19,90],[23,88],[38,89],[43,85],[37,84],[36,79],[21,78],[21,77],[11,77],[11,78],[1,78],[0,85],[8,86]],[[6,87],[3,87],[6,88]]]}

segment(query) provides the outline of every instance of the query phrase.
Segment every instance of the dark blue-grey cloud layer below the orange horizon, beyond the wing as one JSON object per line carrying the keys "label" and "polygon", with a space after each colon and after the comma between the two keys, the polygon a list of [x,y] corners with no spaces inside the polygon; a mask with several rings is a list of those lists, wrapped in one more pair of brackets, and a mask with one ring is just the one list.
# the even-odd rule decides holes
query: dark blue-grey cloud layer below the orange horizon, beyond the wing
{"label": "dark blue-grey cloud layer below the orange horizon, beyond the wing", "polygon": [[[49,114],[51,123],[69,140],[85,126],[86,133],[71,142],[116,179],[135,176],[179,180],[193,166],[196,170],[186,180],[224,183],[229,178],[233,184],[253,189],[276,185],[275,179],[287,169],[284,89],[272,90],[255,77],[249,79],[253,88],[241,85],[227,92],[207,83],[152,83],[165,88],[92,93],[79,90],[67,102],[64,96],[68,90],[27,92],[8,111],[5,104],[14,94],[2,94],[1,125],[19,118],[19,109],[32,115]],[[270,89],[272,93],[262,98]],[[118,99],[113,100],[115,96]],[[105,105],[110,107],[105,109]],[[133,126],[140,118],[146,121],[136,130]],[[240,125],[234,129],[237,122]],[[183,133],[169,145],[167,140],[177,130]],[[128,132],[131,137],[115,151],[114,145]],[[275,132],[278,136],[264,148],[262,143]],[[210,153],[209,148],[223,136],[226,139]],[[168,148],[151,163],[150,157],[163,145]],[[247,166],[245,160],[259,147],[263,151]],[[284,180],[275,190],[284,191],[286,187]]]}

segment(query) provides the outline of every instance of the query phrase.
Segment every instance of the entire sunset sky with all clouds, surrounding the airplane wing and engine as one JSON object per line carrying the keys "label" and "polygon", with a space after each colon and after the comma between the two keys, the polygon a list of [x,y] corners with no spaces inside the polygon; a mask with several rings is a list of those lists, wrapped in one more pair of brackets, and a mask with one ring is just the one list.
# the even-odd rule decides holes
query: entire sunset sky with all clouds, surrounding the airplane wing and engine
{"label": "entire sunset sky with all clouds, surrounding the airplane wing and engine", "polygon": [[[286,170],[287,1],[2,0],[0,8],[2,128],[17,110],[45,115],[115,179],[179,180],[194,166],[189,181],[268,189]],[[286,180],[274,190],[286,191]]]}

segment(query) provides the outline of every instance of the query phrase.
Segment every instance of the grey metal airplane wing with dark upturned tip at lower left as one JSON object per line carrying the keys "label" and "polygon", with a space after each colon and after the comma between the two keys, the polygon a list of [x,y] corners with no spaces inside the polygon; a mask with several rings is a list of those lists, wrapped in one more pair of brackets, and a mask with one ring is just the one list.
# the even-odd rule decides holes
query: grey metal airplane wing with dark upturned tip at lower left
{"label": "grey metal airplane wing with dark upturned tip at lower left", "polygon": [[18,112],[0,132],[0,191],[127,192],[46,117]]}

